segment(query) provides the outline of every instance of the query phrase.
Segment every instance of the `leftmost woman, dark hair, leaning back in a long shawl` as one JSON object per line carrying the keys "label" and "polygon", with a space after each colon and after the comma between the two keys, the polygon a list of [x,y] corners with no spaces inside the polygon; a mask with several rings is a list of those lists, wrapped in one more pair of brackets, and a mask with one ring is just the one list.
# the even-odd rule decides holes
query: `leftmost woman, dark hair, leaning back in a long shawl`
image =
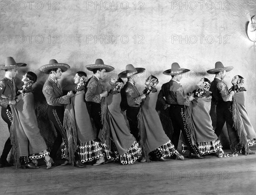
{"label": "leftmost woman, dark hair, leaning back in a long shawl", "polygon": [[[15,157],[20,156],[22,169],[38,169],[37,159],[45,158],[47,169],[52,164],[47,151],[47,145],[40,134],[35,115],[34,95],[32,85],[37,76],[33,72],[23,75],[23,87],[18,91],[17,104],[12,105],[13,122],[11,126],[11,141]],[[30,159],[32,162],[30,161]]]}

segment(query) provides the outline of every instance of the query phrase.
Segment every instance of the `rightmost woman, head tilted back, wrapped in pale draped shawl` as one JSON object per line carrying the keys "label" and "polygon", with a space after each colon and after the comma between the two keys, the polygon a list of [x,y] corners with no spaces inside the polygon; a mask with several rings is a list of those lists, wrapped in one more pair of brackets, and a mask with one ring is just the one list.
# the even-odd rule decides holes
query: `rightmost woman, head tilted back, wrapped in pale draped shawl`
{"label": "rightmost woman, head tilted back, wrapped in pale draped shawl", "polygon": [[[242,131],[246,132],[248,145],[253,146],[253,144],[256,143],[256,133],[253,129],[252,124],[250,123],[250,118],[245,107],[246,89],[243,87],[244,78],[241,77],[240,75],[236,75],[235,77],[233,77],[231,83],[233,86],[229,89],[229,91],[235,92],[233,96],[233,105],[232,105],[232,114],[233,114],[232,116],[233,116],[234,126],[235,128],[241,129]],[[242,154],[254,155],[256,153],[251,151],[250,149],[246,153],[243,148]]]}

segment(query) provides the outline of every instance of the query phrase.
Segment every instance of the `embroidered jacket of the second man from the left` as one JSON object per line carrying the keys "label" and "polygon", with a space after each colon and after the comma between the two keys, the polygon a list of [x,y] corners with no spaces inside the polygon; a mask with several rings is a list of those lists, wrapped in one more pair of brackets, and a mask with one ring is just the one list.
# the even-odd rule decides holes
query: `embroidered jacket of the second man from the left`
{"label": "embroidered jacket of the second man from the left", "polygon": [[69,104],[67,95],[63,95],[61,86],[48,77],[43,87],[44,97],[50,106],[62,106]]}

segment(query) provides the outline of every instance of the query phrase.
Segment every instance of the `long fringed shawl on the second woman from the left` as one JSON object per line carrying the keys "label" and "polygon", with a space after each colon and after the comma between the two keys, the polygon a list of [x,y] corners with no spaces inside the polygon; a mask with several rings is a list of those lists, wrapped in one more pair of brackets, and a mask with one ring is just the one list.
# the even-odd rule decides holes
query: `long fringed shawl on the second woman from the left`
{"label": "long fringed shawl on the second woman from the left", "polygon": [[73,164],[78,143],[96,138],[84,100],[84,90],[78,91],[71,97],[70,104],[65,106],[63,126],[67,130],[69,160]]}

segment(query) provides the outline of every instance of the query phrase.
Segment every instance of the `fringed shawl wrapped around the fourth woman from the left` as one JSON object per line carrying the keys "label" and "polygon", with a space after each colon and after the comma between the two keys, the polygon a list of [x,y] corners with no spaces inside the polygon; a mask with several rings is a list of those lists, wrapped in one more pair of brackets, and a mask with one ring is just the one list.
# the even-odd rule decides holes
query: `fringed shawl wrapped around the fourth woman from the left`
{"label": "fringed shawl wrapped around the fourth woman from the left", "polygon": [[143,99],[138,114],[138,128],[140,145],[146,160],[149,162],[148,153],[163,146],[170,141],[163,130],[162,123],[156,111],[158,93],[150,93]]}

